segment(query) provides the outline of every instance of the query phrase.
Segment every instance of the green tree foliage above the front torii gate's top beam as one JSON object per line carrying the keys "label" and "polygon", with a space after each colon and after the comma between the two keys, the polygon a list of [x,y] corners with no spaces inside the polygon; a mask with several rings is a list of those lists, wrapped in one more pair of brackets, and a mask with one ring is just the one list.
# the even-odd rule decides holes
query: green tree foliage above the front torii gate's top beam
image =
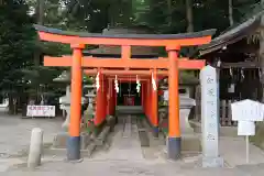
{"label": "green tree foliage above the front torii gate's top beam", "polygon": [[[240,22],[260,0],[233,0],[233,19]],[[68,25],[100,32],[108,25],[144,24],[161,33],[185,32],[185,0],[65,0]],[[193,0],[195,31],[229,26],[228,1]],[[100,23],[98,23],[100,21]]]}

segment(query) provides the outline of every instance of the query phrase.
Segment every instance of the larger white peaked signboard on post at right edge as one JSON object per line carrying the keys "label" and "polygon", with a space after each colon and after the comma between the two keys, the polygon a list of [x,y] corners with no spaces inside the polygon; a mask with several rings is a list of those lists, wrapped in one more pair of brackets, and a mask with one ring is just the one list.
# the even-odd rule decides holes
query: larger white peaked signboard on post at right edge
{"label": "larger white peaked signboard on post at right edge", "polygon": [[231,105],[233,121],[263,121],[264,105],[250,99]]}

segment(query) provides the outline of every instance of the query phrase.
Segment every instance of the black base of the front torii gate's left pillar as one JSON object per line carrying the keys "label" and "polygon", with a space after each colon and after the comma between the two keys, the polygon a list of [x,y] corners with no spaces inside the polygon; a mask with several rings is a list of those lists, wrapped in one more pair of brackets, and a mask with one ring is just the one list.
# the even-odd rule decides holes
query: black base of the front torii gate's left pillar
{"label": "black base of the front torii gate's left pillar", "polygon": [[80,136],[69,136],[67,140],[67,160],[80,160]]}

